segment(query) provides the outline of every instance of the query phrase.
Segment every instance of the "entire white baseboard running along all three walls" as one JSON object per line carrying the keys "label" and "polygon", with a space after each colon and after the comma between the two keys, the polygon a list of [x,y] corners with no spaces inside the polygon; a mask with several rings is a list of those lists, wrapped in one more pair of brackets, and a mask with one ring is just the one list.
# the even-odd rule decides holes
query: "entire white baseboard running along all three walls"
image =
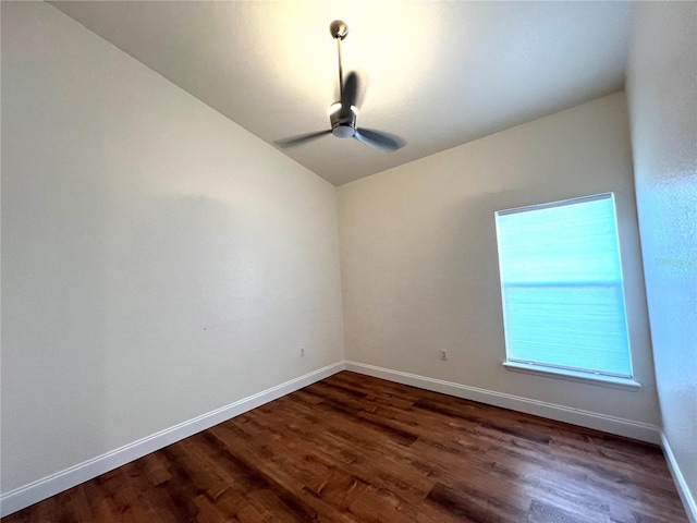
{"label": "entire white baseboard running along all three walls", "polygon": [[45,478],[24,485],[0,496],[0,516],[4,518],[13,512],[22,510],[30,504],[47,499],[56,494],[72,488],[81,483],[112,471],[131,461],[137,460],[150,452],[155,452],[168,445],[193,436],[196,433],[212,427],[219,423],[256,409],[269,401],[273,401],[295,390],[307,387],[316,381],[325,379],[343,369],[387,379],[398,384],[409,385],[435,392],[478,401],[503,409],[525,412],[550,419],[572,423],[588,428],[603,430],[641,441],[662,445],[665,458],[677,490],[681,495],[685,510],[692,523],[697,523],[697,508],[695,499],[689,492],[675,458],[670,449],[668,440],[659,427],[639,422],[633,422],[621,417],[598,414],[595,412],[572,409],[564,405],[530,400],[487,389],[479,389],[466,385],[444,381],[441,379],[418,376],[415,374],[392,370],[357,362],[339,362],[301,376],[284,384],[271,387],[257,394],[235,401],[216,411],[203,414],[198,417],[181,423],[173,427],[156,433],[146,438],[129,443],[119,449],[107,452],[91,460],[71,466]]}

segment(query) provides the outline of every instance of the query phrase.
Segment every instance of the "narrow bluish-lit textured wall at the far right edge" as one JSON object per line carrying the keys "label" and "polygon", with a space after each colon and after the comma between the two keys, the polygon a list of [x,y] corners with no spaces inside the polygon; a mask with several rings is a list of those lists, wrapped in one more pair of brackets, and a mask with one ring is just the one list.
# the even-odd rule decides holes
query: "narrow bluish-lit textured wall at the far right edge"
{"label": "narrow bluish-lit textured wall at the far right edge", "polygon": [[653,357],[697,521],[697,3],[635,9],[627,93]]}

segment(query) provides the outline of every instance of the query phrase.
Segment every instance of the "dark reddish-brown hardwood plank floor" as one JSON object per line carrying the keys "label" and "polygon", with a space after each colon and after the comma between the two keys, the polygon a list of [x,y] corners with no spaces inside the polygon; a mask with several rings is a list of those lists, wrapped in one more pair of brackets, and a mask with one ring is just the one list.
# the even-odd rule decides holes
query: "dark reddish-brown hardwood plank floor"
{"label": "dark reddish-brown hardwood plank floor", "polygon": [[658,447],[343,372],[2,519],[681,523]]}

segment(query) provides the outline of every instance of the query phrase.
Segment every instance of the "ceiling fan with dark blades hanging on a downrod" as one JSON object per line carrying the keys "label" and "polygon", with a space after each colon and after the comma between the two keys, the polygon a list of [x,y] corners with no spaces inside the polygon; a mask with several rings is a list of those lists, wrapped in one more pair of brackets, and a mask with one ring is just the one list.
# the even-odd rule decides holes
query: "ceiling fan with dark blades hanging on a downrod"
{"label": "ceiling fan with dark blades hanging on a downrod", "polygon": [[358,95],[358,75],[355,72],[348,73],[346,82],[343,81],[343,68],[341,64],[341,40],[348,34],[348,26],[341,20],[334,20],[329,25],[331,36],[337,40],[339,54],[339,93],[340,100],[329,107],[329,122],[331,129],[315,133],[301,134],[291,138],[280,139],[276,144],[281,147],[293,147],[313,139],[320,138],[328,134],[333,134],[338,138],[356,138],[366,145],[377,147],[382,150],[393,151],[401,148],[404,142],[395,136],[379,131],[365,127],[356,127],[356,97]]}

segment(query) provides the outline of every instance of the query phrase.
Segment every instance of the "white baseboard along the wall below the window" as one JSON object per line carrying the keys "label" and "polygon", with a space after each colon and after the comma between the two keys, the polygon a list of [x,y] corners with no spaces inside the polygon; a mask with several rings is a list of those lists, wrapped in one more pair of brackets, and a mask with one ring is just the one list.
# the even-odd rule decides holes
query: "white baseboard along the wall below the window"
{"label": "white baseboard along the wall below the window", "polygon": [[389,368],[376,367],[357,362],[345,362],[346,370],[374,376],[376,378],[396,381],[398,384],[409,385],[420,389],[442,392],[455,396],[465,400],[478,401],[489,405],[501,406],[512,411],[525,412],[536,416],[548,417],[559,422],[572,423],[582,427],[595,428],[606,433],[638,439],[655,445],[661,443],[660,428],[647,423],[634,422],[622,417],[609,416],[596,412],[572,409],[555,403],[521,398],[512,394],[504,394],[493,390],[479,389],[466,385],[443,381],[442,379],[418,376],[416,374],[392,370]]}

